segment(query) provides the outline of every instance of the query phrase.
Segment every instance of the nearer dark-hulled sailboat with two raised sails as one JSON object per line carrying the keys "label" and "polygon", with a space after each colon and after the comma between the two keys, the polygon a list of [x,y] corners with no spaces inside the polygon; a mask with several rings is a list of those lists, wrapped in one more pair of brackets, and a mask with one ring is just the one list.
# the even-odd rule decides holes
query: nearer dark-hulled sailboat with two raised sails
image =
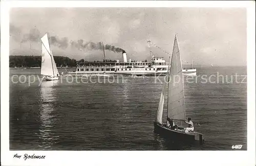
{"label": "nearer dark-hulled sailboat with two raised sails", "polygon": [[[177,79],[178,81],[177,83]],[[167,118],[172,121],[173,124],[162,123],[163,106],[164,106],[164,94],[167,85]],[[160,96],[159,106],[154,122],[155,132],[160,135],[167,136],[174,140],[194,141],[199,140],[203,143],[203,134],[192,131],[185,132],[183,127],[174,126],[175,123],[181,123],[186,119],[185,100],[184,100],[184,85],[182,77],[182,64],[180,57],[180,50],[177,35],[175,35],[174,48],[171,62],[169,63],[168,70],[168,82],[164,83]],[[171,127],[169,127],[169,125]]]}

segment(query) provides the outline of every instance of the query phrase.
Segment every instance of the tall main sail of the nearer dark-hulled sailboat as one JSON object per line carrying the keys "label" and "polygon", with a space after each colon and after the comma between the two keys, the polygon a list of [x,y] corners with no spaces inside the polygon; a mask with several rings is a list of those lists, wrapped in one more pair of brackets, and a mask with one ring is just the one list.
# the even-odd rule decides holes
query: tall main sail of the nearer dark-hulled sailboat
{"label": "tall main sail of the nearer dark-hulled sailboat", "polygon": [[177,35],[175,35],[170,63],[167,112],[168,117],[174,120],[184,120],[186,118],[182,65]]}

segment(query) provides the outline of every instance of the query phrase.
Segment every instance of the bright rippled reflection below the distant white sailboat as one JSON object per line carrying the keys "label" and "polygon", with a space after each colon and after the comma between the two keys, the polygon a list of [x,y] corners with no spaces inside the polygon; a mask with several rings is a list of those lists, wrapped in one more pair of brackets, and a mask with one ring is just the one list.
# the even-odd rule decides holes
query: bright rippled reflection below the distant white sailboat
{"label": "bright rippled reflection below the distant white sailboat", "polygon": [[53,114],[53,102],[56,101],[54,96],[54,86],[58,84],[55,81],[43,81],[40,86],[40,102],[39,102],[39,115],[40,127],[38,130],[38,137],[40,140],[39,147],[42,149],[49,149],[57,143],[58,137],[54,135],[55,132],[55,115]]}

